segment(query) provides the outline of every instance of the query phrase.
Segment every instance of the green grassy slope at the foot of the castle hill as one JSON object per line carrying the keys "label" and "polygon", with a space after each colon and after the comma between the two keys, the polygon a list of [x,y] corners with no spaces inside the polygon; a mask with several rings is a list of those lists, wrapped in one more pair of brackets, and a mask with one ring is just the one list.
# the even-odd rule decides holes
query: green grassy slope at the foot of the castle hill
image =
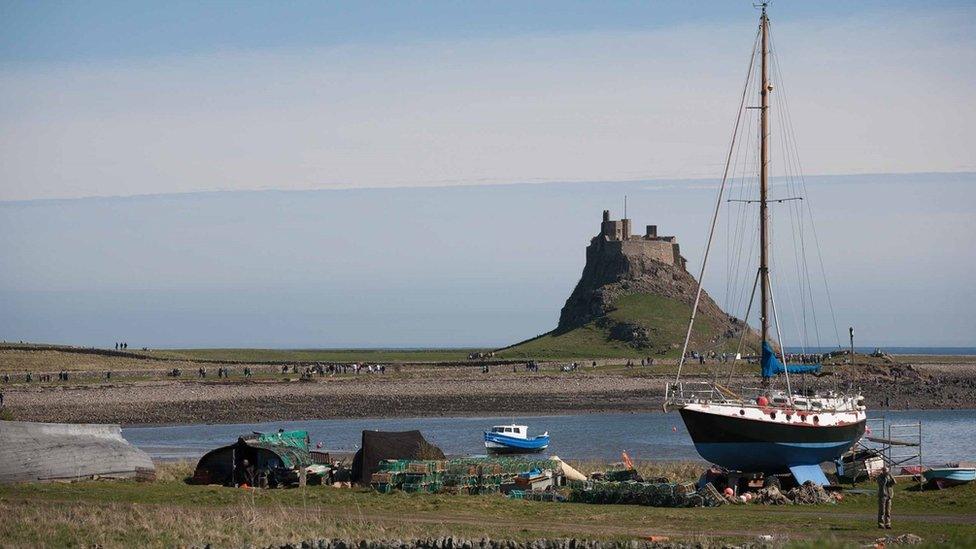
{"label": "green grassy slope at the foot of the castle hill", "polygon": [[[632,294],[621,297],[616,308],[607,316],[615,322],[631,322],[651,329],[651,349],[638,350],[623,341],[610,339],[607,328],[596,321],[560,335],[545,334],[535,339],[507,348],[497,356],[502,358],[640,358],[646,356],[674,358],[680,349],[672,346],[684,341],[688,329],[691,306],[678,300],[652,294]],[[699,316],[695,320],[691,349],[703,350],[697,345],[715,335],[711,319]],[[736,342],[727,348],[734,350]],[[712,350],[712,349],[709,349]]]}

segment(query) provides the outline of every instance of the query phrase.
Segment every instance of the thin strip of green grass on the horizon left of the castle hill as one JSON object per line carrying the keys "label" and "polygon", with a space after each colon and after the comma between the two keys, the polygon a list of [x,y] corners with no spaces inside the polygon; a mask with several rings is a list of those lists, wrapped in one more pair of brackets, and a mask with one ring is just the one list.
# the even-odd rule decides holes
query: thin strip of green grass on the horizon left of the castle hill
{"label": "thin strip of green grass on the horizon left of the castle hill", "polygon": [[473,349],[162,349],[137,351],[155,358],[235,362],[450,362]]}

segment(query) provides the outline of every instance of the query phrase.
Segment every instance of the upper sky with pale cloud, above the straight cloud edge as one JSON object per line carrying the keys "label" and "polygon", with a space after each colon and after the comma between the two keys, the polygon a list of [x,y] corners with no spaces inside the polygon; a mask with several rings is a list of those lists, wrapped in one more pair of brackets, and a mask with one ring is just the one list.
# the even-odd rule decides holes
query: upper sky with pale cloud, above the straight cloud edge
{"label": "upper sky with pale cloud, above the straight cloud edge", "polygon": [[[976,170],[971,2],[770,12],[807,173]],[[714,177],[756,24],[750,1],[6,1],[0,200]]]}

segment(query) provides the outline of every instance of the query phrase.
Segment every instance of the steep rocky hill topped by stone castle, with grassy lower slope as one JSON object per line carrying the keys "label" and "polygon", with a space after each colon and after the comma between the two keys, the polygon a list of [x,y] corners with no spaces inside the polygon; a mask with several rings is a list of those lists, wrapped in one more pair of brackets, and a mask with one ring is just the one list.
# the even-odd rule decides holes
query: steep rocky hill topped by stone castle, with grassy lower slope
{"label": "steep rocky hill topped by stone castle, with grassy lower slope", "polygon": [[[677,356],[698,283],[685,269],[677,239],[650,225],[630,235],[630,220],[604,212],[600,234],[586,248],[586,265],[555,330],[501,350],[502,356]],[[699,302],[690,350],[734,351],[748,327],[707,293]],[[758,338],[750,331],[749,348]]]}

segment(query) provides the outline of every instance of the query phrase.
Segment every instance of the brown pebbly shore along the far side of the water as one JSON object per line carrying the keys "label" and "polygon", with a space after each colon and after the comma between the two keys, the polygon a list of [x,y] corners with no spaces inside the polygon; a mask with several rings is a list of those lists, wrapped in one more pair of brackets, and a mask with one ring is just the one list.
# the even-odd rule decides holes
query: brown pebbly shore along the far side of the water
{"label": "brown pebbly shore along the far side of the water", "polygon": [[[633,414],[663,411],[670,376],[584,374],[492,376],[474,380],[325,382],[142,382],[7,390],[14,419],[117,423],[125,427],[332,419],[409,419]],[[490,389],[501,385],[503,391]],[[504,389],[509,389],[504,391]],[[976,409],[976,379],[887,381],[862,386],[870,411]],[[885,402],[889,404],[884,406]]]}

